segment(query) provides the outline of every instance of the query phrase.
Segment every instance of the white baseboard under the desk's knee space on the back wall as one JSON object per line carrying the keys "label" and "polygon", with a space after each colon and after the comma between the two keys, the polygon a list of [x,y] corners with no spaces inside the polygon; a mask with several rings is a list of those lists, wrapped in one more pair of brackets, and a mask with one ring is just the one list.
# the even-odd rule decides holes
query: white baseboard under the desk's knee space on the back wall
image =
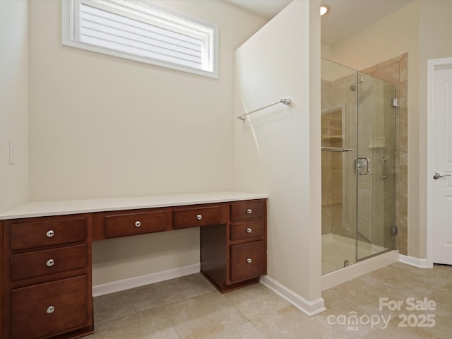
{"label": "white baseboard under the desk's knee space on the back wall", "polygon": [[172,268],[171,270],[163,270],[162,272],[155,272],[147,275],[141,275],[139,277],[113,281],[112,283],[95,285],[93,286],[93,297],[108,295],[109,293],[129,290],[134,287],[140,287],[153,283],[159,283],[160,281],[183,277],[184,275],[198,273],[200,269],[201,263],[194,263],[193,265],[189,266]]}

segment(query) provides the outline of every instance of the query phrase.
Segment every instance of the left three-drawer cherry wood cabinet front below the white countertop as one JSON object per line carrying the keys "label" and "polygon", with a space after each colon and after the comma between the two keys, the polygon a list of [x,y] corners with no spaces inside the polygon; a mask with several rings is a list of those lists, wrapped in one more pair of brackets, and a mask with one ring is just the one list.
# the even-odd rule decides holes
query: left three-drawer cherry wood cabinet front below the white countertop
{"label": "left three-drawer cherry wood cabinet front below the white countertop", "polygon": [[2,339],[93,333],[91,217],[4,220]]}

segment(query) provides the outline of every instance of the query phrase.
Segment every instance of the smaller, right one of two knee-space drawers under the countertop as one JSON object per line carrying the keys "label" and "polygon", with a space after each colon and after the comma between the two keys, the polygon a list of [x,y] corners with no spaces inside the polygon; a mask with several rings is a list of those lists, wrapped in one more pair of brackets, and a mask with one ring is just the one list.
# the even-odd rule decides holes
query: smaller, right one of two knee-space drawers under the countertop
{"label": "smaller, right one of two knee-space drawers under the countertop", "polygon": [[183,208],[173,211],[173,226],[176,229],[219,225],[221,223],[220,205]]}

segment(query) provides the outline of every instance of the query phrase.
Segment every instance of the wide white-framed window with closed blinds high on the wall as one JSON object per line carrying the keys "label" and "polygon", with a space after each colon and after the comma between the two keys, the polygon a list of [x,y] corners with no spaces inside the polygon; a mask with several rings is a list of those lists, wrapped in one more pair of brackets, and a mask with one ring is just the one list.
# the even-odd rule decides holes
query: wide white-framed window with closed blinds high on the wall
{"label": "wide white-framed window with closed blinds high on the wall", "polygon": [[218,28],[143,0],[64,0],[63,44],[218,78]]}

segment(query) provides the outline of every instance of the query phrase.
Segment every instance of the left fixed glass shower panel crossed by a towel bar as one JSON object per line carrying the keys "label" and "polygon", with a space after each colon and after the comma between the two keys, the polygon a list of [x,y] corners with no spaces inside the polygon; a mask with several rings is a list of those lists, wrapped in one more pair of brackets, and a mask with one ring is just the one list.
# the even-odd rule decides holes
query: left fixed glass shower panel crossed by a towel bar
{"label": "left fixed glass shower panel crossed by a towel bar", "polygon": [[322,273],[357,261],[357,72],[321,59]]}

